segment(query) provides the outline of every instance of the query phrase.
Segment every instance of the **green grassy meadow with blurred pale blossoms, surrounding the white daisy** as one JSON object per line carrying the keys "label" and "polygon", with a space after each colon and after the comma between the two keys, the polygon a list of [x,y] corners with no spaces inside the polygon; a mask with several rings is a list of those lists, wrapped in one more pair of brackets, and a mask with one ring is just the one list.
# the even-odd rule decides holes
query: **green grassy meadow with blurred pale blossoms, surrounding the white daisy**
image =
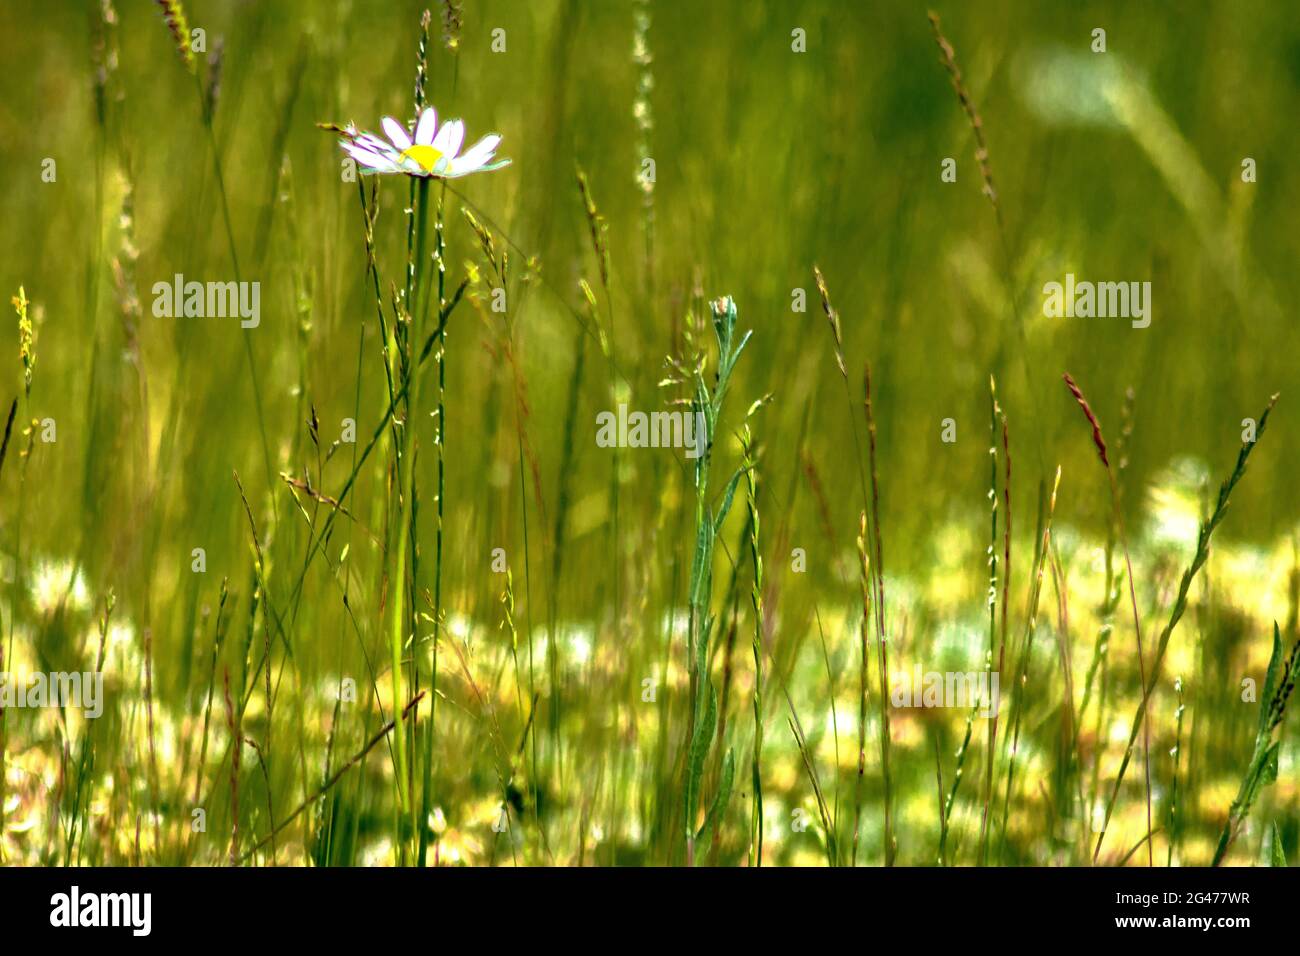
{"label": "green grassy meadow with blurred pale blossoms, surrounding the white daisy", "polygon": [[[104,675],[0,708],[0,860],[1295,858],[1294,186],[1236,181],[1294,90],[1238,146],[1182,33],[1112,74],[1010,0],[722,7],[0,14],[68,98],[0,143],[0,674]],[[514,164],[339,165],[425,105]],[[1165,311],[1044,319],[1067,268]],[[176,273],[261,324],[156,315]],[[601,447],[620,405],[702,454]]]}

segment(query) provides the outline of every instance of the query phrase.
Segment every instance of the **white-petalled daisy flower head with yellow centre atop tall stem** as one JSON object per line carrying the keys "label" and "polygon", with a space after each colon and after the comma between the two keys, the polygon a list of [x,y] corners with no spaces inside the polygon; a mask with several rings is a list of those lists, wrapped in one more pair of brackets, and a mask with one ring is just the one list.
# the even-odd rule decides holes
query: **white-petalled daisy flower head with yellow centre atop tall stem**
{"label": "white-petalled daisy flower head with yellow centre atop tall stem", "polygon": [[500,137],[495,133],[460,152],[465,125],[460,120],[448,120],[439,129],[433,107],[420,114],[413,137],[391,116],[385,116],[382,125],[387,139],[374,133],[358,133],[352,126],[341,130],[346,139],[339,146],[361,164],[363,173],[406,173],[455,179],[510,165],[508,159],[491,161],[497,144],[500,143]]}

